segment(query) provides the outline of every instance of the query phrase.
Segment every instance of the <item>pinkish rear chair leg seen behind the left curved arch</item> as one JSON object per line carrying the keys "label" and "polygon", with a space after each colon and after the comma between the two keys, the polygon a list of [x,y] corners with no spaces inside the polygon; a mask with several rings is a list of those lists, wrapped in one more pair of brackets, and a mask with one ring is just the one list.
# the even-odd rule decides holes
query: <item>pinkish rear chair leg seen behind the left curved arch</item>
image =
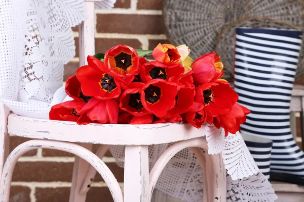
{"label": "pinkish rear chair leg seen behind the left curved arch", "polygon": [[[93,144],[81,143],[82,147],[92,151]],[[82,183],[84,182],[87,173],[90,169],[90,164],[78,156],[75,156],[73,167],[72,186],[69,196],[69,202],[85,202],[87,193],[80,194]]]}

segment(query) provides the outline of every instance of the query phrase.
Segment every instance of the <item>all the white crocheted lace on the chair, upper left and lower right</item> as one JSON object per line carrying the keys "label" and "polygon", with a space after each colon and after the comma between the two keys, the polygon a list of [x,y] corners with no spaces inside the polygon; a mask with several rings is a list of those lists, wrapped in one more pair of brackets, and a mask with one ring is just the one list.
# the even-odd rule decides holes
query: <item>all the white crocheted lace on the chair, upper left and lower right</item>
{"label": "all the white crocheted lace on the chair, upper left and lower right", "polygon": [[[112,8],[115,0],[95,3]],[[48,118],[50,107],[70,98],[62,86],[63,65],[75,55],[71,27],[85,18],[83,0],[0,0],[0,101],[18,115]],[[61,88],[60,88],[61,87]],[[239,133],[205,127],[208,154],[222,153],[227,201],[274,201],[271,184],[258,172]],[[170,144],[149,146],[149,166]],[[124,166],[123,146],[111,146]],[[202,201],[202,173],[189,149],[180,151],[162,172],[156,188],[188,202]]]}

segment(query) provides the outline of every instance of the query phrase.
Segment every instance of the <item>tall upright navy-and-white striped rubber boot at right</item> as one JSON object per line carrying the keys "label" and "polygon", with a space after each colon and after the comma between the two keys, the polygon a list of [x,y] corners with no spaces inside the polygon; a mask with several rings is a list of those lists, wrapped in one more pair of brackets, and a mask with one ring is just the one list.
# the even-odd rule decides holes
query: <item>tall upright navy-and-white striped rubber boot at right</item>
{"label": "tall upright navy-and-white striped rubber boot at right", "polygon": [[271,179],[304,184],[304,153],[290,130],[290,100],[300,31],[236,29],[235,90],[251,114],[243,134],[273,140]]}

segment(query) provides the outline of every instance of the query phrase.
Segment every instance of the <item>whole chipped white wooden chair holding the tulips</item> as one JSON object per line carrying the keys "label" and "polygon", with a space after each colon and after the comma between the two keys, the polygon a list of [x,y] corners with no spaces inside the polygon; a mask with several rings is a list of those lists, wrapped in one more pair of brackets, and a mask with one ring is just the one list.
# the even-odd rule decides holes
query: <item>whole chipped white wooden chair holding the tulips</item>
{"label": "whole chipped white wooden chair holding the tulips", "polygon": [[[85,56],[94,55],[94,0],[86,1],[87,18],[80,25],[80,65]],[[101,133],[102,131],[102,133]],[[114,201],[148,202],[156,182],[169,160],[180,150],[190,147],[196,155],[203,172],[204,201],[225,201],[226,170],[218,162],[221,155],[205,155],[207,150],[201,129],[189,124],[149,125],[77,125],[75,122],[34,119],[10,113],[0,103],[0,198],[9,201],[10,185],[18,159],[27,151],[50,148],[67,151],[76,156],[69,201],[84,202],[96,171],[108,185]],[[33,138],[17,146],[9,153],[9,134]],[[72,143],[73,142],[73,143]],[[75,143],[80,143],[80,145]],[[158,159],[153,169],[148,168],[148,145],[173,143]],[[93,144],[101,144],[96,154]],[[101,161],[109,145],[126,145],[124,191],[109,168]],[[8,158],[7,158],[8,157]],[[4,162],[6,163],[4,164]],[[206,163],[207,162],[207,163]],[[124,192],[124,194],[123,194]]]}

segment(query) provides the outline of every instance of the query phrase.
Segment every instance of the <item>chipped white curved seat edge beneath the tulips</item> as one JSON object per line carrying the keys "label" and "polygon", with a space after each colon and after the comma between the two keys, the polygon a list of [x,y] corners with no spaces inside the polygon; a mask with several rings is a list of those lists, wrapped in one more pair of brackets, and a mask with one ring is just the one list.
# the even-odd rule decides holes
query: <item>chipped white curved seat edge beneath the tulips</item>
{"label": "chipped white curved seat edge beneath the tulips", "polygon": [[151,145],[176,142],[205,135],[205,125],[197,129],[188,123],[88,124],[35,119],[11,113],[10,135],[34,139],[109,145]]}

